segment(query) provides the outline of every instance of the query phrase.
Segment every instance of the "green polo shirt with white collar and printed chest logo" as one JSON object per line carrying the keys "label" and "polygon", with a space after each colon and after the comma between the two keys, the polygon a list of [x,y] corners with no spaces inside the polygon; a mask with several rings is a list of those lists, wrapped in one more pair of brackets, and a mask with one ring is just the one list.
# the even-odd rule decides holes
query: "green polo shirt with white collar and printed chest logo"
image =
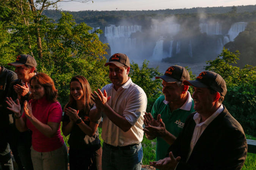
{"label": "green polo shirt with white collar and printed chest logo", "polygon": [[[161,114],[161,119],[163,123],[165,123],[166,130],[176,137],[178,137],[181,133],[187,116],[195,111],[194,101],[189,92],[188,95],[189,96],[185,104],[173,112],[171,112],[168,102],[165,101],[165,96],[160,96],[157,100],[155,100],[151,111],[151,114],[155,120],[157,120],[157,115]],[[170,145],[167,144],[165,140],[157,137],[155,161],[165,158],[169,147]]]}

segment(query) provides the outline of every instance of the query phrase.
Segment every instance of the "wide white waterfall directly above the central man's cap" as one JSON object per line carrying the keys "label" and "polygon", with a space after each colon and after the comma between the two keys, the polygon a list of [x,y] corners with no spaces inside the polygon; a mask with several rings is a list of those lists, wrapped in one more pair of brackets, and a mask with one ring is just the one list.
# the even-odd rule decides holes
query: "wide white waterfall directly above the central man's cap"
{"label": "wide white waterfall directly above the central man's cap", "polygon": [[111,53],[124,53],[127,56],[134,56],[133,52],[138,47],[136,46],[136,38],[131,38],[130,35],[137,31],[141,32],[141,26],[106,26],[105,40],[110,45]]}

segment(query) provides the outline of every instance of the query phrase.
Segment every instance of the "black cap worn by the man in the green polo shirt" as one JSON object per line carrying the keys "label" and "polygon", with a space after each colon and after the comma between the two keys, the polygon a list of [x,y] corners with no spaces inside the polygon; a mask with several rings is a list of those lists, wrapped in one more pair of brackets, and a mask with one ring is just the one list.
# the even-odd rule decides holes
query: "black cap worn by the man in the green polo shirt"
{"label": "black cap worn by the man in the green polo shirt", "polygon": [[163,76],[155,77],[156,79],[163,79],[167,83],[174,83],[177,81],[190,80],[188,71],[178,65],[170,66]]}

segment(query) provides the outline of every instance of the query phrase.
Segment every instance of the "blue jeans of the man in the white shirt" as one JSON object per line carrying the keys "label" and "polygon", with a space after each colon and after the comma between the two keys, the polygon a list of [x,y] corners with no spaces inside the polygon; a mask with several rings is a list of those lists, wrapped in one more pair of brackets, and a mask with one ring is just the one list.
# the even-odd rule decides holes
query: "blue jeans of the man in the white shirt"
{"label": "blue jeans of the man in the white shirt", "polygon": [[102,170],[140,170],[143,151],[141,143],[130,150],[111,149],[105,143],[102,148]]}

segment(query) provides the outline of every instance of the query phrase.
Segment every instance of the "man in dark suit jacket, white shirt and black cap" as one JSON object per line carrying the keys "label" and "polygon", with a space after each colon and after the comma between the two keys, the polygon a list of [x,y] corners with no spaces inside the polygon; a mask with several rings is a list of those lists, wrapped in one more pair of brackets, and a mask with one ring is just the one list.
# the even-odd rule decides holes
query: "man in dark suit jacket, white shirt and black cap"
{"label": "man in dark suit jacket, white shirt and black cap", "polygon": [[[223,78],[204,71],[192,85],[196,112],[185,121],[181,135],[169,148],[169,157],[151,162],[160,169],[240,170],[247,156],[243,128],[221,103],[227,92]],[[176,158],[175,158],[176,157]]]}

